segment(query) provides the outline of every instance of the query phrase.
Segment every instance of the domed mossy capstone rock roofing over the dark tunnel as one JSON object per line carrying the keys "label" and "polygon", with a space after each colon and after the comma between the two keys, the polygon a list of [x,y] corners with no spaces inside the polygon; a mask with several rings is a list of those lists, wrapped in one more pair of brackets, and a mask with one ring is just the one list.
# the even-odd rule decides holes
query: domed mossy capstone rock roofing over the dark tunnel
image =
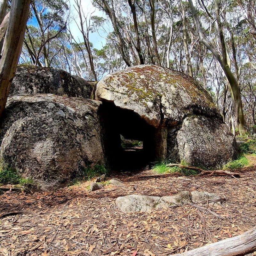
{"label": "domed mossy capstone rock roofing over the dark tunnel", "polygon": [[220,116],[210,95],[189,76],[168,68],[140,65],[105,76],[96,99],[133,110],[148,124],[178,124],[193,113]]}

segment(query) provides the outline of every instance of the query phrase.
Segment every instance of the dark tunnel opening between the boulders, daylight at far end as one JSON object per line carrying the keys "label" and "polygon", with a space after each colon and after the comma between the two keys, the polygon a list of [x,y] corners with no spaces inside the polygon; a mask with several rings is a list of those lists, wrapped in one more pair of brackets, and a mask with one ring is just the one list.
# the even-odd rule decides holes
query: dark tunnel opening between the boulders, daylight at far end
{"label": "dark tunnel opening between the boulders, daylight at far end", "polygon": [[166,140],[159,129],[149,125],[132,110],[104,101],[100,108],[105,130],[105,150],[109,166],[114,170],[138,170],[164,159]]}

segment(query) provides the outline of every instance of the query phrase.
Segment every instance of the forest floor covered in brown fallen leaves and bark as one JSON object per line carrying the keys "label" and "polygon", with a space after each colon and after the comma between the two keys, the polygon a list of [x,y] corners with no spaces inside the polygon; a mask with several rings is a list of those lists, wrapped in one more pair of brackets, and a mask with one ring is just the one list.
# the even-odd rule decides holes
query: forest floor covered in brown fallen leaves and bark
{"label": "forest floor covered in brown fallen leaves and bark", "polygon": [[[186,177],[152,170],[112,175],[125,182],[89,192],[89,182],[56,192],[5,192],[0,196],[0,254],[165,256],[237,236],[256,223],[256,156],[234,179]],[[136,191],[133,186],[137,185]],[[184,204],[151,212],[120,213],[118,196],[168,196],[180,190],[225,197],[214,205]]]}

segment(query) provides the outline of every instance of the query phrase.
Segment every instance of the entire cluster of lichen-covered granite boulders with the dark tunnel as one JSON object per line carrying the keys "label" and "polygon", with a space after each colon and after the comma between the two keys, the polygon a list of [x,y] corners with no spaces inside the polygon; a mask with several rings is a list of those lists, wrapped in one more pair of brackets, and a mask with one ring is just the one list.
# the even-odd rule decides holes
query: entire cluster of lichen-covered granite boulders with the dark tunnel
{"label": "entire cluster of lichen-covered granite boulders with the dark tunnel", "polygon": [[[235,157],[234,136],[191,77],[135,66],[105,76],[96,100],[83,99],[95,84],[56,68],[20,66],[1,124],[1,160],[42,189],[56,189],[96,164],[123,170],[183,159],[213,167]],[[125,149],[121,138],[143,147]]]}

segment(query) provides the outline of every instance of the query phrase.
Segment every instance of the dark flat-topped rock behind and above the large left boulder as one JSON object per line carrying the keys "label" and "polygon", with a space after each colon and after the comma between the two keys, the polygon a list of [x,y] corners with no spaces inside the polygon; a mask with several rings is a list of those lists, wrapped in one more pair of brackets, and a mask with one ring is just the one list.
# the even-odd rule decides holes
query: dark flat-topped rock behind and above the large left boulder
{"label": "dark flat-topped rock behind and above the large left boulder", "polygon": [[64,97],[90,99],[95,84],[59,68],[21,65],[17,68],[9,96],[52,93]]}

